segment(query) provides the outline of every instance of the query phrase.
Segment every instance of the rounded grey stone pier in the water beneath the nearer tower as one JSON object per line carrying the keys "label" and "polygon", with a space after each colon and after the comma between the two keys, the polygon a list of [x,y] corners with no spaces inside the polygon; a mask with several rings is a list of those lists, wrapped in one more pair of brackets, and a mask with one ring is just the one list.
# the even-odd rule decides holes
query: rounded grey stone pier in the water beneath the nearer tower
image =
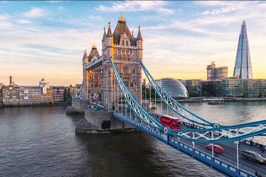
{"label": "rounded grey stone pier in the water beneath the nearer tower", "polygon": [[81,133],[102,134],[129,132],[137,129],[113,117],[112,111],[85,111],[85,118],[77,122],[75,130]]}

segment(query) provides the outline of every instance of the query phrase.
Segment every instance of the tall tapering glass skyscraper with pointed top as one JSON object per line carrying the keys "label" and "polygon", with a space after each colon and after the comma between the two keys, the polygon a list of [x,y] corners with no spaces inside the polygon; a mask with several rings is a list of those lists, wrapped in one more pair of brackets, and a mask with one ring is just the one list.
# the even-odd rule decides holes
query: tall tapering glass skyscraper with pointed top
{"label": "tall tapering glass skyscraper with pointed top", "polygon": [[236,62],[233,76],[239,76],[241,79],[253,79],[251,59],[249,53],[249,40],[246,32],[246,21],[243,20],[239,35]]}

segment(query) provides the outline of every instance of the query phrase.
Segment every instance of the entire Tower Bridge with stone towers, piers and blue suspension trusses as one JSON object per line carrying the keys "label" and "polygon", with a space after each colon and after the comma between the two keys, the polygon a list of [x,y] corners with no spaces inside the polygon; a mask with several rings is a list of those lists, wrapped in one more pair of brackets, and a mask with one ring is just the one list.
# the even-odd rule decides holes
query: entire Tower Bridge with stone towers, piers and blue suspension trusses
{"label": "entire Tower Bridge with stone towers, piers and blue suspension trusses", "polygon": [[[266,169],[239,158],[238,143],[241,139],[263,136],[266,132],[266,120],[224,126],[210,122],[181,106],[155,82],[142,63],[142,36],[140,26],[135,38],[129,31],[122,14],[114,32],[111,23],[102,38],[102,55],[95,45],[87,55],[84,51],[82,91],[72,102],[73,109],[85,110],[85,118],[76,125],[77,132],[109,133],[141,130],[191,158],[207,165],[225,176],[254,176],[254,171],[266,175]],[[146,112],[142,106],[142,69],[151,86],[160,99],[182,120],[182,125],[196,124],[194,130],[173,130],[160,124],[159,114]],[[82,95],[82,96],[81,96]],[[98,98],[100,103],[95,102]],[[124,98],[124,102],[122,101]],[[119,100],[125,104],[119,106]],[[90,111],[87,105],[99,106],[97,111]],[[103,108],[101,108],[103,105]],[[91,107],[91,106],[90,106]],[[95,110],[95,109],[93,109]],[[216,153],[214,144],[230,142],[232,148],[226,153]],[[249,145],[245,140],[245,144]],[[206,151],[207,144],[212,147]],[[234,145],[234,146],[233,146]],[[229,159],[229,160],[228,160]]]}

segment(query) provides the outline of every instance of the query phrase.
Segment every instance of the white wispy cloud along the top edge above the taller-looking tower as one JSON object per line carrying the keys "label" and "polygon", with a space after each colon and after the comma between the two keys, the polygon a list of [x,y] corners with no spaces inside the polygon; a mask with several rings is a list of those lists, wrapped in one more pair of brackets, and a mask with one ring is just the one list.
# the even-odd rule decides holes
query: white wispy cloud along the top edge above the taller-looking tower
{"label": "white wispy cloud along the top edge above the taller-looking tower", "polygon": [[163,8],[163,6],[169,4],[167,1],[125,1],[125,2],[111,2],[113,5],[107,7],[105,5],[100,5],[99,7],[94,7],[97,11],[104,12],[137,12],[137,11],[155,11],[161,14],[172,14],[172,9]]}

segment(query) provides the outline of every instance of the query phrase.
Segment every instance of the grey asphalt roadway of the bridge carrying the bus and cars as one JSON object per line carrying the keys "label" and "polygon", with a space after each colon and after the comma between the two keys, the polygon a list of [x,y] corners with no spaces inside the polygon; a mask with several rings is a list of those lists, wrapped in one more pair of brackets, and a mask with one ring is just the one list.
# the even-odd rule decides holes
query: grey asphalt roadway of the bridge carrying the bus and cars
{"label": "grey asphalt roadway of the bridge carrying the bus and cars", "polygon": [[[119,109],[119,112],[121,113],[121,109]],[[129,116],[130,112],[126,112],[126,113],[127,113],[127,115],[126,115],[127,118],[133,119],[133,117]],[[124,114],[125,114],[125,112],[123,112],[123,115]],[[134,112],[131,112],[131,114],[134,115]],[[151,115],[151,116],[153,118],[155,118],[158,122],[160,122],[160,120],[158,118],[156,118],[154,115]],[[134,117],[133,120],[136,121],[135,117]],[[137,120],[140,120],[140,119],[137,117]],[[143,123],[143,125],[147,126],[147,124],[145,124],[145,123]],[[184,124],[182,124],[182,129],[186,130],[187,127],[184,126]],[[204,131],[202,131],[202,133],[204,133]],[[217,137],[217,135],[214,135],[214,136]],[[176,136],[173,136],[173,138],[177,140]],[[180,139],[180,142],[184,142],[185,144],[193,147],[193,144],[192,144],[191,141],[186,141],[186,140]],[[199,142],[198,143],[198,142],[196,142],[195,143],[195,148],[198,149],[198,150],[201,150],[204,153],[212,155],[212,150],[209,150],[209,149],[206,148],[207,144],[209,144],[209,143],[204,143],[204,142]],[[219,156],[216,157],[216,158],[218,158],[220,160],[223,160],[224,162],[237,167],[236,144],[234,144],[233,141],[219,142],[219,143],[215,143],[215,144],[221,146],[224,149],[224,152],[223,153],[218,153]],[[239,168],[244,170],[244,171],[246,171],[246,172],[248,172],[248,173],[250,173],[250,174],[254,174],[255,170],[257,170],[257,172],[259,174],[262,174],[262,175],[266,176],[266,173],[265,173],[266,165],[265,164],[257,164],[256,162],[253,162],[251,160],[244,159],[244,157],[241,155],[241,152],[243,150],[255,151],[255,152],[259,153],[260,155],[262,155],[262,157],[266,158],[266,154],[261,153],[260,148],[257,148],[257,150],[254,150],[254,146],[250,146],[249,144],[246,144],[246,143],[245,144],[241,143],[241,145],[239,147]]]}

